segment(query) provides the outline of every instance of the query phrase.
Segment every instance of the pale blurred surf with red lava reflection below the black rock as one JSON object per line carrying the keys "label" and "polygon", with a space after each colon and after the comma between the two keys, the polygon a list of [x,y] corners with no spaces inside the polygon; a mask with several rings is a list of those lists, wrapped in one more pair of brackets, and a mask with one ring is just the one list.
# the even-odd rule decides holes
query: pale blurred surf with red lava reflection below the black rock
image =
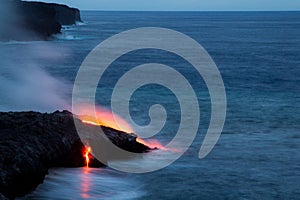
{"label": "pale blurred surf with red lava reflection below the black rock", "polygon": [[[101,174],[101,176],[98,176]],[[126,179],[127,181],[124,181]],[[57,187],[59,182],[60,187]],[[128,174],[109,169],[75,168],[51,169],[48,183],[41,185],[26,199],[49,199],[55,191],[54,199],[122,199],[142,198],[144,191],[140,181]],[[74,192],[74,190],[76,192]]]}

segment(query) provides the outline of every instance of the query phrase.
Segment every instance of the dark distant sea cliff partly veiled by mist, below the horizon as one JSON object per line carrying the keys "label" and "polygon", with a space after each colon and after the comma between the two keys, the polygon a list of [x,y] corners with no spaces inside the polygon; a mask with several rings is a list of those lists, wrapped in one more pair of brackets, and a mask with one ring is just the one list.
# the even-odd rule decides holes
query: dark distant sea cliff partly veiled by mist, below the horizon
{"label": "dark distant sea cliff partly veiled by mist, below the horizon", "polygon": [[62,25],[81,21],[80,11],[66,5],[0,0],[0,41],[47,40]]}

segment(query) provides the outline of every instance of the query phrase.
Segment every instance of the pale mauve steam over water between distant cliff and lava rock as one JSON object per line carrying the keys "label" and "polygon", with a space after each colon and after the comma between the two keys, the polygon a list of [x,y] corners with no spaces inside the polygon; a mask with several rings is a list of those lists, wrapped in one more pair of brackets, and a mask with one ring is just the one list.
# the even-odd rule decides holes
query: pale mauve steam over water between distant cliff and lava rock
{"label": "pale mauve steam over water between distant cliff and lava rock", "polygon": [[46,42],[10,42],[0,46],[0,110],[70,109],[72,85],[44,69],[44,63],[64,59],[63,51]]}

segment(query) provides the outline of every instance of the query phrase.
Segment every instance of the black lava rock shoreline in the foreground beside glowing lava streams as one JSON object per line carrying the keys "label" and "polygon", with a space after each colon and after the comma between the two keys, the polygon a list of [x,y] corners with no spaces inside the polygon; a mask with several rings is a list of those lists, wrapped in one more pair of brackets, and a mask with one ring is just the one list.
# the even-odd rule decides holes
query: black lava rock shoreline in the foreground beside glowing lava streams
{"label": "black lava rock shoreline in the foreground beside glowing lava streams", "polygon": [[[74,120],[90,130],[99,128],[81,123],[68,111],[0,112],[0,199],[14,199],[33,191],[51,167],[85,166],[84,144]],[[135,153],[150,150],[136,142],[133,134],[108,127],[102,129],[122,149]],[[104,164],[92,157],[89,166]]]}

